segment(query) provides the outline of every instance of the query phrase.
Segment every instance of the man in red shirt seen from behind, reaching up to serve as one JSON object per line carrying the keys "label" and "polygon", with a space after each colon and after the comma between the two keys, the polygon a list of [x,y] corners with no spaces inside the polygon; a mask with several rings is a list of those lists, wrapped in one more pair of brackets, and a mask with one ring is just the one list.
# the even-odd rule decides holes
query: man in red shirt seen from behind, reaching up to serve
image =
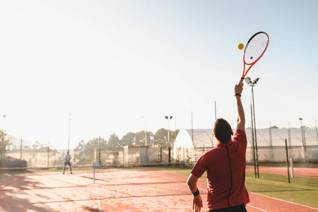
{"label": "man in red shirt seen from behind, reaching up to serve", "polygon": [[[245,113],[241,102],[243,86],[235,86],[237,105],[237,127],[233,135],[232,127],[225,119],[217,119],[213,136],[216,146],[204,153],[191,171],[187,180],[193,196],[193,209],[201,211],[202,198],[196,182],[204,172],[208,178],[209,211],[246,211],[249,194],[245,187],[245,167],[247,139],[245,134]],[[232,137],[233,136],[233,137]]]}

